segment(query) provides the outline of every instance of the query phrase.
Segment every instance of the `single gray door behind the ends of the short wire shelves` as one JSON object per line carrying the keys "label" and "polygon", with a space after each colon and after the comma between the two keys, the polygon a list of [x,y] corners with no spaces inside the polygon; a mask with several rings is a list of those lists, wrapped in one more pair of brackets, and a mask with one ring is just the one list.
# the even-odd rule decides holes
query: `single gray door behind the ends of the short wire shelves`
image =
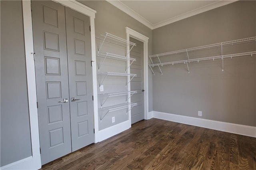
{"label": "single gray door behind the ends of the short wire shelves", "polygon": [[138,103],[131,110],[132,124],[144,119],[144,54],[143,43],[130,38],[131,42],[136,43],[130,52],[130,57],[136,58],[130,67],[132,74],[137,74],[131,81],[131,90],[137,90],[138,93],[132,95],[131,102]]}

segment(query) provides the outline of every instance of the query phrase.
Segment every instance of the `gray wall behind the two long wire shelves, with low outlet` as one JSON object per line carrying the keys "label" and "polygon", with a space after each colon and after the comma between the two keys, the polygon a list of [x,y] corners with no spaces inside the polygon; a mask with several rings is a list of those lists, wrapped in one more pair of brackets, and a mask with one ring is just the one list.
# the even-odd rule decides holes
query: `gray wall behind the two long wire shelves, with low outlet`
{"label": "gray wall behind the two long wire shelves, with low outlet", "polygon": [[[153,30],[153,53],[256,36],[256,1],[238,1]],[[224,47],[224,54],[256,51],[256,44]],[[208,49],[190,58],[220,55]],[[161,57],[187,59],[186,53]],[[156,61],[156,60],[155,60]],[[256,62],[253,57],[166,65],[163,75],[154,68],[153,110],[164,113],[256,126]]]}

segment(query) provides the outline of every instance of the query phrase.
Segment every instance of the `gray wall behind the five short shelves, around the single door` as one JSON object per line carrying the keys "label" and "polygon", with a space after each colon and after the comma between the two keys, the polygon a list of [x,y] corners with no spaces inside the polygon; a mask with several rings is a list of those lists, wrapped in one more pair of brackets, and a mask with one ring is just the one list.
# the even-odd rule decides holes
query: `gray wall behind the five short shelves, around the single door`
{"label": "gray wall behind the five short shelves, around the single door", "polygon": [[[96,37],[100,37],[100,34],[105,35],[105,32],[110,34],[114,34],[121,38],[126,39],[126,26],[136,30],[137,32],[147,36],[149,38],[148,42],[148,53],[152,54],[152,30],[147,28],[134,18],[128,16],[118,8],[112,6],[110,3],[106,1],[79,1],[82,4],[94,9],[97,11],[95,18],[95,34]],[[98,52],[98,48],[102,40],[96,39],[96,53]],[[112,43],[104,43],[101,53],[110,52],[119,55],[125,55],[126,49],[119,45],[114,45]],[[97,57],[97,65],[99,65],[102,61],[102,58]],[[112,72],[122,72],[124,73],[126,69],[126,63],[124,61],[118,61],[113,59],[106,59],[104,61],[104,65],[101,67],[100,72],[112,71]],[[149,79],[151,80],[152,74],[149,70]],[[103,76],[98,75],[98,83],[103,80]],[[150,81],[149,81],[150,82]],[[104,92],[102,93],[111,93],[118,91],[126,91],[125,88],[126,77],[116,77],[109,76],[103,83]],[[149,89],[152,89],[152,83],[149,83]],[[149,111],[152,111],[152,90],[150,91],[149,97]],[[98,93],[100,93],[98,89]],[[102,103],[104,97],[98,97],[98,102]],[[115,105],[117,103],[125,103],[125,96],[113,97],[108,99],[108,101],[104,104],[104,107]],[[99,106],[100,107],[100,106]],[[99,112],[104,115],[104,112]],[[115,117],[115,123],[112,123],[112,117]],[[115,111],[108,113],[106,117],[99,121],[99,129],[102,130],[104,128],[110,127],[112,125],[116,125],[118,123],[124,122],[128,120],[128,115],[126,115],[126,109]]]}

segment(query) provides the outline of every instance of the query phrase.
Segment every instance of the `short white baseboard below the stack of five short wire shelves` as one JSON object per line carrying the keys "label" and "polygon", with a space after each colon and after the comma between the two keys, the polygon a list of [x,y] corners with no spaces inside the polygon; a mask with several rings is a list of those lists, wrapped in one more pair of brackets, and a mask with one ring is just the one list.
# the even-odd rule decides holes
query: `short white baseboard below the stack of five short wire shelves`
{"label": "short white baseboard below the stack of five short wire shelves", "polygon": [[95,137],[97,137],[97,139],[95,139],[95,141],[101,142],[102,140],[105,140],[107,138],[110,138],[110,137],[118,134],[118,133],[121,133],[130,127],[131,127],[130,121],[125,121],[125,122],[119,123],[117,125],[114,125],[112,127],[108,127],[103,130],[99,130],[97,135],[95,136]]}

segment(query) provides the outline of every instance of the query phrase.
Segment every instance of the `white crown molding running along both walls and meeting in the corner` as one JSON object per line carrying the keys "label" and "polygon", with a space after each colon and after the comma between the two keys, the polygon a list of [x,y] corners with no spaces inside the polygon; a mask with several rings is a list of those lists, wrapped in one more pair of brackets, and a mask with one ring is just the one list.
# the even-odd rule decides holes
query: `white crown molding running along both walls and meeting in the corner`
{"label": "white crown molding running along both walls and meeting in the corner", "polygon": [[115,6],[116,8],[122,10],[123,12],[125,12],[126,14],[128,14],[129,16],[134,18],[135,20],[137,20],[140,23],[144,24],[145,26],[147,26],[151,30],[154,30],[156,28],[159,28],[159,27],[162,27],[162,26],[166,26],[166,25],[171,24],[173,22],[176,22],[176,21],[179,21],[179,20],[183,20],[183,19],[188,18],[190,16],[194,16],[194,15],[200,14],[202,12],[206,12],[208,10],[212,10],[214,8],[218,8],[220,6],[224,6],[224,5],[230,4],[232,2],[236,2],[237,0],[220,0],[218,2],[214,2],[212,4],[203,6],[201,8],[196,9],[196,10],[192,10],[192,11],[186,12],[185,14],[181,14],[181,15],[176,16],[174,18],[170,18],[170,19],[165,20],[163,22],[159,22],[158,24],[152,24],[151,22],[149,22],[148,20],[146,20],[145,18],[140,16],[138,13],[136,13],[134,10],[132,10],[131,8],[129,8],[128,6],[126,6],[125,4],[120,2],[119,0],[106,0],[106,1],[109,2],[110,4],[112,4],[113,6]]}

